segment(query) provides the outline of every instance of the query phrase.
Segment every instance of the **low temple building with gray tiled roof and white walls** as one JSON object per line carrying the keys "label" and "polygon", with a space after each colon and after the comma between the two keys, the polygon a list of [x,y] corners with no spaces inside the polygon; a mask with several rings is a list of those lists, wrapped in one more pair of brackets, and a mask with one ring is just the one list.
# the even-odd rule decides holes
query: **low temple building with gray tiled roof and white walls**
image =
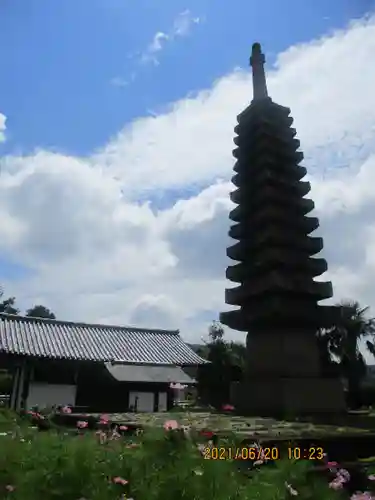
{"label": "low temple building with gray tiled roof and white walls", "polygon": [[13,375],[17,411],[167,411],[174,384],[195,384],[184,368],[204,363],[178,331],[0,314],[0,368]]}

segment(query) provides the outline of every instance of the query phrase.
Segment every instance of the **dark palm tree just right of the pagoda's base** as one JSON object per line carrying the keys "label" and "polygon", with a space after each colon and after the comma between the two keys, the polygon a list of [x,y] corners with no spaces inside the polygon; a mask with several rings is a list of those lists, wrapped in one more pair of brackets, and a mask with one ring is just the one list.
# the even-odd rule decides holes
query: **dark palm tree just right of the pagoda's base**
{"label": "dark palm tree just right of the pagoda's base", "polygon": [[[356,301],[343,301],[338,304],[339,318],[336,324],[326,331],[329,351],[339,361],[342,376],[347,381],[348,404],[352,409],[361,406],[360,386],[366,375],[366,362],[359,349],[360,340],[375,334],[375,318],[368,317],[368,307],[361,307]],[[367,342],[371,352],[375,352],[372,342]]]}

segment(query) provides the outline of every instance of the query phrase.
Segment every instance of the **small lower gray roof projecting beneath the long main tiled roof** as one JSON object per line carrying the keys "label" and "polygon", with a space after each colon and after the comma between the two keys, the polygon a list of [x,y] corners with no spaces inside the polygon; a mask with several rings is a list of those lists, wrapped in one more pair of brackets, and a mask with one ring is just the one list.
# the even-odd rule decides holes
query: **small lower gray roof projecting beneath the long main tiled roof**
{"label": "small lower gray roof projecting beneath the long main tiled roof", "polygon": [[119,382],[174,382],[194,384],[179,366],[124,365],[106,363],[109,373]]}

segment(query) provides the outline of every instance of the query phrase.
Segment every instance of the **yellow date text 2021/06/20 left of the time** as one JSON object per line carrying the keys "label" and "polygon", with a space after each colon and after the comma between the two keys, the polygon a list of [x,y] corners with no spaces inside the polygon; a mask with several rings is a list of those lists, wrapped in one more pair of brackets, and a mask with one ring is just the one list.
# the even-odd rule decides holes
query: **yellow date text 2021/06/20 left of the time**
{"label": "yellow date text 2021/06/20 left of the time", "polygon": [[278,460],[280,458],[279,448],[271,447],[207,447],[203,450],[205,460]]}

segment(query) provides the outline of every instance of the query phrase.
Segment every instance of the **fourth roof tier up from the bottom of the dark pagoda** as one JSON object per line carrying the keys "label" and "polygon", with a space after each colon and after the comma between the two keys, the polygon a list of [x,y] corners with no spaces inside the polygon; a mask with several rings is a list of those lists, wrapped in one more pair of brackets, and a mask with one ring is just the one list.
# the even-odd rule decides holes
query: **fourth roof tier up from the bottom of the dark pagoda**
{"label": "fourth roof tier up from the bottom of the dark pagoda", "polygon": [[250,257],[260,258],[264,250],[269,247],[282,247],[301,255],[311,256],[323,249],[323,239],[311,236],[296,238],[293,235],[285,234],[285,231],[270,229],[262,234],[254,234],[251,240],[239,241],[227,248],[227,256],[238,262],[248,261]]}

